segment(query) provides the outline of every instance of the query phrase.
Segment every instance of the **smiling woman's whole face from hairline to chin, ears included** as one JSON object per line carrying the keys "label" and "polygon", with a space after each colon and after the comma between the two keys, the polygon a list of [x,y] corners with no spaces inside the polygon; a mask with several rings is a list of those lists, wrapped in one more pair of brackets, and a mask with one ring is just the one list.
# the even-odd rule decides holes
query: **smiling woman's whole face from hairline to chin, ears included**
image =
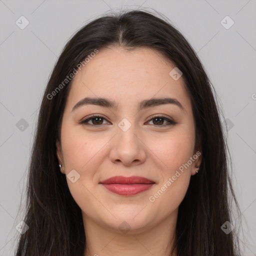
{"label": "smiling woman's whole face from hairline to chin, ears included", "polygon": [[[177,214],[201,157],[174,67],[152,49],[117,47],[99,51],[73,78],[56,147],[83,219],[115,230],[126,221],[135,232]],[[113,176],[144,179],[103,182]]]}

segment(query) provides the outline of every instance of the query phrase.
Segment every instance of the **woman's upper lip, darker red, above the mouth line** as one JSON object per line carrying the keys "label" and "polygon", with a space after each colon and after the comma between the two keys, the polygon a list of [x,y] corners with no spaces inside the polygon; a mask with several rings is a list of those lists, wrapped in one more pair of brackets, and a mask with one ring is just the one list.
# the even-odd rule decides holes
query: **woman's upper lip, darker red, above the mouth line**
{"label": "woman's upper lip, darker red, above the mouth line", "polygon": [[140,176],[130,176],[130,177],[124,177],[124,176],[113,176],[110,178],[107,178],[103,181],[100,181],[99,183],[103,184],[113,184],[113,183],[119,183],[119,184],[134,184],[134,183],[144,183],[144,184],[150,184],[155,183],[154,181]]}

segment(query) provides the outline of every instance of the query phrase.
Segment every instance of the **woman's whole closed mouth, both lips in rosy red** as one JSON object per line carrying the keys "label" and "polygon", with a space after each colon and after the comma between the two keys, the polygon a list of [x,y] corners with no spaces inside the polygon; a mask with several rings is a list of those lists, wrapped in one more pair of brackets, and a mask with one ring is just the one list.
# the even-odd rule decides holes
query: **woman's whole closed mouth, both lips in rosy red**
{"label": "woman's whole closed mouth, both lips in rosy red", "polygon": [[140,176],[113,176],[99,182],[107,190],[119,195],[135,195],[148,190],[154,181]]}

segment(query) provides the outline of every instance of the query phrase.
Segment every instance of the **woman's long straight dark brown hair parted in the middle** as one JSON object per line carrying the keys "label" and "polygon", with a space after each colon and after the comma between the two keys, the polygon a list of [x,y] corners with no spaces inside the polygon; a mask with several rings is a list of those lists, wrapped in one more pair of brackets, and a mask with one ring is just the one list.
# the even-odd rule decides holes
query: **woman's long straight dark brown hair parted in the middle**
{"label": "woman's long straight dark brown hair parted in the middle", "polygon": [[150,47],[162,53],[182,71],[191,99],[196,147],[202,152],[202,161],[179,205],[174,244],[177,255],[234,256],[239,253],[238,236],[234,230],[226,234],[220,228],[225,221],[232,223],[231,199],[236,208],[239,206],[228,173],[229,152],[215,90],[184,36],[164,18],[142,10],[99,17],[80,28],[62,50],[39,110],[26,191],[24,222],[29,229],[20,235],[15,255],[84,253],[81,209],[69,192],[65,175],[59,171],[55,146],[56,139],[60,140],[72,80],[62,83],[54,98],[49,99],[49,94],[95,49],[116,46],[128,50]]}

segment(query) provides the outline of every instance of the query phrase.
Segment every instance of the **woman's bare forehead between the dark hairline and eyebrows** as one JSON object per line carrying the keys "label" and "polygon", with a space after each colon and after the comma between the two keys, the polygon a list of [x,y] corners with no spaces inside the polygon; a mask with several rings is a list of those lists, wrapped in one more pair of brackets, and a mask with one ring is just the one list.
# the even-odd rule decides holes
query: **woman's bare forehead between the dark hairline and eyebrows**
{"label": "woman's bare forehead between the dark hairline and eyebrows", "polygon": [[160,52],[139,47],[99,50],[74,76],[69,91],[69,108],[86,96],[106,97],[127,106],[152,97],[173,97],[189,109],[190,99],[182,76],[174,80],[175,65]]}

